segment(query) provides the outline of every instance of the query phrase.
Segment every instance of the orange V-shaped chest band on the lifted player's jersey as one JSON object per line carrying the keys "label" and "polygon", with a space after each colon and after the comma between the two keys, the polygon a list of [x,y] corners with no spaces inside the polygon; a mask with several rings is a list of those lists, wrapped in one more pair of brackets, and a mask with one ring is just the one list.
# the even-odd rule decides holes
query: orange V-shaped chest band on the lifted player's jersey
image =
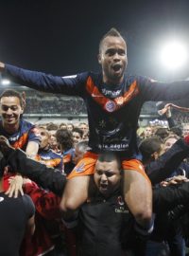
{"label": "orange V-shaped chest band on the lifted player's jersey", "polygon": [[110,112],[107,110],[108,109],[107,104],[109,102],[114,103],[113,111],[116,111],[123,105],[127,104],[133,97],[135,97],[139,93],[139,87],[137,85],[136,80],[130,84],[129,91],[125,92],[123,96],[117,97],[112,100],[106,98],[103,94],[99,92],[98,88],[95,86],[91,77],[87,79],[86,89],[90,93],[90,95],[93,97],[94,101],[96,101],[99,105],[101,105],[103,109],[106,110],[107,112]]}

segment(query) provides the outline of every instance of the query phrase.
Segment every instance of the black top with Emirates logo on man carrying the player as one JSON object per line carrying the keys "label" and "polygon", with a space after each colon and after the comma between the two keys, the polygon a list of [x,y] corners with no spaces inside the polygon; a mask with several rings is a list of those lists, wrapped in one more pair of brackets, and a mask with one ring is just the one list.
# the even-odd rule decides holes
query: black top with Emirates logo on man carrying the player
{"label": "black top with Emirates logo on man carrying the player", "polygon": [[99,194],[79,211],[80,255],[122,255],[133,224],[120,192],[109,198]]}

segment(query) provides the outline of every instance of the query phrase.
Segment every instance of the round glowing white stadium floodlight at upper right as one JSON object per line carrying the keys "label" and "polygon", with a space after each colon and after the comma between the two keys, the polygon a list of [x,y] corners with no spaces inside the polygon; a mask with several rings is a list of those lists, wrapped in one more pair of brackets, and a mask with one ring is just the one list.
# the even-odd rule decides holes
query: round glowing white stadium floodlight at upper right
{"label": "round glowing white stadium floodlight at upper right", "polygon": [[174,71],[187,63],[188,52],[186,46],[179,41],[171,40],[162,47],[160,58],[164,67]]}

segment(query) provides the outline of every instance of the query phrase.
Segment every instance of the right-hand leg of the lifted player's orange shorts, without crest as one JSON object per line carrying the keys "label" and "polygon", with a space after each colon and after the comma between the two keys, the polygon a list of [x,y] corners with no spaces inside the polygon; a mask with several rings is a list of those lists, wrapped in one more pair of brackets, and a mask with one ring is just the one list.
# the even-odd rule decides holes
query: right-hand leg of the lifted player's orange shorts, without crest
{"label": "right-hand leg of the lifted player's orange shorts, without crest", "polygon": [[146,175],[145,168],[141,161],[139,161],[137,159],[123,160],[122,168],[125,171],[135,171],[137,173],[142,174],[146,178],[146,180],[149,183],[151,183],[148,176]]}

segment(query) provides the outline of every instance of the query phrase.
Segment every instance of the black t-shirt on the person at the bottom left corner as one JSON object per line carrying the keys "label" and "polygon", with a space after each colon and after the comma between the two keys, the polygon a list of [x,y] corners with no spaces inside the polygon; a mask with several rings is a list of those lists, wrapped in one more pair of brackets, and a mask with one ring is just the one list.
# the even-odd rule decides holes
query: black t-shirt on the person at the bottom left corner
{"label": "black t-shirt on the person at the bottom left corner", "polygon": [[0,192],[0,255],[19,256],[28,219],[35,207],[28,195],[18,198]]}

